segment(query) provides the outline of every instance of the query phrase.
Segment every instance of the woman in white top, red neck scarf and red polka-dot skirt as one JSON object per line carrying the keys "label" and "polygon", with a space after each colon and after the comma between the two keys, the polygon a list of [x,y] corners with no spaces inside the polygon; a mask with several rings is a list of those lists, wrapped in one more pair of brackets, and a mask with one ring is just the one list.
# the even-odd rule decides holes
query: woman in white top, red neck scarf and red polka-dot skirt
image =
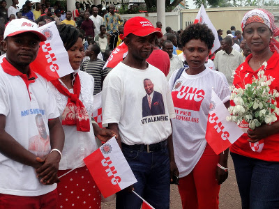
{"label": "woman in white top, red neck scarf and red polka-dot skirt", "polygon": [[[57,26],[63,45],[68,52],[73,73],[52,81],[60,120],[65,132],[65,144],[59,164],[57,185],[58,208],[100,208],[100,191],[83,159],[93,153],[100,140],[107,141],[114,132],[91,123],[93,112],[94,80],[80,71],[84,57],[82,35],[71,25]],[[95,139],[95,136],[98,139]],[[75,169],[63,176],[63,174]]]}

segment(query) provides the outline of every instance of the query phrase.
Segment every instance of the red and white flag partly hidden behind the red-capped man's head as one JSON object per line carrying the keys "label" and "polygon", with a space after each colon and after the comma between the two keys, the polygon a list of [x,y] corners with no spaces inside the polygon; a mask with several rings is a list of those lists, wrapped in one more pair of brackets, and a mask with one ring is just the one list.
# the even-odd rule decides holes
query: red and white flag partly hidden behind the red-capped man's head
{"label": "red and white flag partly hidden behind the red-capped man's head", "polygon": [[124,42],[121,42],[121,44],[112,51],[112,54],[110,54],[110,57],[107,59],[103,69],[114,68],[118,63],[123,61],[127,54],[128,47]]}

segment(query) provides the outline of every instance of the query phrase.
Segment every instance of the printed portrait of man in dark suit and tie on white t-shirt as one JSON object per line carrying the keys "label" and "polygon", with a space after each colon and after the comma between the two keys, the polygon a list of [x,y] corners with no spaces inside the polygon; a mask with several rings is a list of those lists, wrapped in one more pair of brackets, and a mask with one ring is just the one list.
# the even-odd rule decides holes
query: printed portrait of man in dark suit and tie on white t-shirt
{"label": "printed portrait of man in dark suit and tie on white t-shirt", "polygon": [[144,89],[146,95],[142,98],[142,117],[165,114],[163,96],[158,91],[154,91],[154,84],[150,79],[144,79]]}

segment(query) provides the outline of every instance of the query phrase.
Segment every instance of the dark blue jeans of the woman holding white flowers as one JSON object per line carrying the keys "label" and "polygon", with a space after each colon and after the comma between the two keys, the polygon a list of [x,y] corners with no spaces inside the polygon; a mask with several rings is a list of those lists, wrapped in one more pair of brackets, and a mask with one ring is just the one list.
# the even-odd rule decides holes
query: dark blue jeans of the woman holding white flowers
{"label": "dark blue jeans of the woman holding white flowers", "polygon": [[279,162],[231,153],[243,209],[279,208]]}

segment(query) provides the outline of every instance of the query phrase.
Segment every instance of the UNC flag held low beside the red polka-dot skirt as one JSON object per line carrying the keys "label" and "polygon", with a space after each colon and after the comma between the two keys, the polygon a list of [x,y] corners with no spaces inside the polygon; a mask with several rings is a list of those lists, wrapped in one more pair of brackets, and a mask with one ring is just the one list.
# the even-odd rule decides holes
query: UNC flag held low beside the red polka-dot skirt
{"label": "UNC flag held low beside the red polka-dot skirt", "polygon": [[137,182],[115,137],[85,157],[84,163],[105,198]]}

